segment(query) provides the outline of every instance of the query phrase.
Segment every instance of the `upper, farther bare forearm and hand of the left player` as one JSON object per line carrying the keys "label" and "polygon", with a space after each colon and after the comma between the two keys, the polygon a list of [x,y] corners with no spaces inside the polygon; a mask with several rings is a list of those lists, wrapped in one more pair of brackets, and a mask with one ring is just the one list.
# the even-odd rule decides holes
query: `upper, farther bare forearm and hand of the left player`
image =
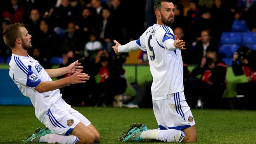
{"label": "upper, farther bare forearm and hand of the left player", "polygon": [[75,72],[81,71],[83,66],[80,66],[80,65],[81,65],[81,63],[78,63],[78,60],[76,60],[75,62],[71,63],[67,67],[61,67],[61,68],[57,68],[57,69],[47,69],[45,71],[51,78],[55,78],[55,77],[59,77],[64,74],[67,74],[67,73],[73,74]]}

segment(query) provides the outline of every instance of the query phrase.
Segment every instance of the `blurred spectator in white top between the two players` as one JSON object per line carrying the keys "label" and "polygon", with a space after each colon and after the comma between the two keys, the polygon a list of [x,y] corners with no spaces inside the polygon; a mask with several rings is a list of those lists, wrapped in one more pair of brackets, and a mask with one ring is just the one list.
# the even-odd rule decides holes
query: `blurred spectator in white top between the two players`
{"label": "blurred spectator in white top between the two players", "polygon": [[103,48],[102,43],[98,39],[98,35],[96,32],[92,32],[90,34],[90,41],[85,44],[84,53],[85,56],[92,56],[95,51],[99,51]]}

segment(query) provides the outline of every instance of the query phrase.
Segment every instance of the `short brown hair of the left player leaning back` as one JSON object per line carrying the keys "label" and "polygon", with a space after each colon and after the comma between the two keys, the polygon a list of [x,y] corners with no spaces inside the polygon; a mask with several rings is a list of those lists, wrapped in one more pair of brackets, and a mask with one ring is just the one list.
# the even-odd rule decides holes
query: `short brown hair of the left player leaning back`
{"label": "short brown hair of the left player leaning back", "polygon": [[22,38],[21,32],[19,30],[21,27],[25,27],[23,23],[13,23],[9,26],[6,26],[2,32],[5,44],[11,49],[15,46],[16,39]]}

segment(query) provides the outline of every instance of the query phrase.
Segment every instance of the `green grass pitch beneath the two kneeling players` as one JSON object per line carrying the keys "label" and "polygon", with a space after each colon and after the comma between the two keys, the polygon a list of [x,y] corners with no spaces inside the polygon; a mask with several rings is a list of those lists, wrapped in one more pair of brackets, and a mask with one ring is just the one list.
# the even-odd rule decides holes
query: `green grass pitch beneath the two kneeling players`
{"label": "green grass pitch beneath the two kneeling players", "polygon": [[[101,134],[101,144],[136,144],[119,142],[118,137],[131,123],[145,123],[157,128],[152,109],[113,107],[73,107],[87,117]],[[197,127],[196,144],[255,144],[256,111],[192,109]],[[0,106],[0,144],[22,144],[36,128],[44,125],[36,118],[33,106]],[[163,144],[143,141],[139,144]]]}

